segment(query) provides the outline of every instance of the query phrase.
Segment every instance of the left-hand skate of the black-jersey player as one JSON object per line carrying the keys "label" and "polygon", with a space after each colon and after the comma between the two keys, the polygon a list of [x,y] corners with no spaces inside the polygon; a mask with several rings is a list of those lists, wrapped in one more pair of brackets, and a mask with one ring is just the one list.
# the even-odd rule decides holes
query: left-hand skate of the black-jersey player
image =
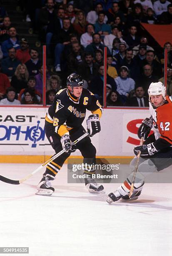
{"label": "left-hand skate of the black-jersey player", "polygon": [[40,183],[37,185],[37,192],[36,195],[52,195],[55,191],[54,187],[51,187],[50,180],[54,180],[50,174],[43,175]]}

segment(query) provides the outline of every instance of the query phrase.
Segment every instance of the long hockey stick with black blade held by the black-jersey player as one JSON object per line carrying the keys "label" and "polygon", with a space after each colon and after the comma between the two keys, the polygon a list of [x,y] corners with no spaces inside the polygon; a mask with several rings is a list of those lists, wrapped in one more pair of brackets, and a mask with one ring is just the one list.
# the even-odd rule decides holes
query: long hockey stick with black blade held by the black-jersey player
{"label": "long hockey stick with black blade held by the black-jersey player", "polygon": [[[88,136],[89,133],[84,133],[82,136],[80,136],[80,138],[77,138],[75,141],[73,141],[71,143],[71,145],[75,145],[77,144],[79,141],[81,141],[83,138],[85,138],[86,136]],[[35,174],[36,172],[38,172],[42,167],[44,167],[45,165],[49,164],[51,161],[53,161],[54,159],[56,159],[58,156],[62,155],[65,152],[65,149],[61,150],[59,153],[55,154],[54,156],[52,156],[50,159],[48,159],[44,164],[42,164],[41,166],[39,166],[35,171],[33,171],[32,173],[30,173],[29,175],[27,175],[25,178],[20,179],[20,180],[13,180],[13,179],[8,179],[5,178],[3,176],[0,175],[0,180],[2,182],[6,182],[9,184],[15,184],[15,185],[19,185],[22,182],[24,182],[25,180],[29,179],[30,177],[32,177],[33,174]]]}

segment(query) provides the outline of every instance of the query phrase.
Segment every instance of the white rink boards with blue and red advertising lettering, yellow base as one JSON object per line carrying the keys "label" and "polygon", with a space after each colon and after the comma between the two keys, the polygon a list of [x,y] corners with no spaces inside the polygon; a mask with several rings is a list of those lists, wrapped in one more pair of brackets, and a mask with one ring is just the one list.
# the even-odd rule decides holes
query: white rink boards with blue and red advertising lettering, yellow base
{"label": "white rink boards with blue and red advertising lettering, yellow base", "polygon": [[[47,108],[0,108],[0,162],[40,163],[53,153],[44,130]],[[83,126],[86,128],[87,112]],[[137,130],[149,117],[148,109],[104,109],[101,132],[91,138],[97,156],[115,158],[133,156],[140,143]],[[80,157],[76,151],[72,157]]]}

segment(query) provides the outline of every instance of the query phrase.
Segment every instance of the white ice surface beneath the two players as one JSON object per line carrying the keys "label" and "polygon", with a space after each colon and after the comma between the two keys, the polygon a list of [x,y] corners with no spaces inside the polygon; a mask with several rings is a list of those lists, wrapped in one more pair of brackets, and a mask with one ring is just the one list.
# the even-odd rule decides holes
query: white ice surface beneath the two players
{"label": "white ice surface beneath the two players", "polygon": [[[1,164],[0,174],[21,179],[39,165]],[[52,196],[35,195],[44,170],[20,185],[0,182],[1,247],[29,247],[30,256],[172,255],[171,184],[145,184],[139,200],[109,205],[67,184],[66,165]],[[105,184],[107,194],[118,186]]]}

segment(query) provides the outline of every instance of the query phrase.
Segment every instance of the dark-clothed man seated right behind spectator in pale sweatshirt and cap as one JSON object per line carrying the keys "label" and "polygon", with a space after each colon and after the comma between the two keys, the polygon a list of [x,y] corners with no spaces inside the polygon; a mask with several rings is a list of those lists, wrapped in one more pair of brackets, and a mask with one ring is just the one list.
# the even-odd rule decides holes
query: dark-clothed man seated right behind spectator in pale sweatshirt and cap
{"label": "dark-clothed man seated right behind spectator in pale sweatshirt and cap", "polygon": [[137,65],[136,61],[132,59],[132,49],[128,48],[125,51],[125,58],[122,60],[122,66],[126,66],[129,70],[129,76],[136,80],[140,76],[140,67]]}

